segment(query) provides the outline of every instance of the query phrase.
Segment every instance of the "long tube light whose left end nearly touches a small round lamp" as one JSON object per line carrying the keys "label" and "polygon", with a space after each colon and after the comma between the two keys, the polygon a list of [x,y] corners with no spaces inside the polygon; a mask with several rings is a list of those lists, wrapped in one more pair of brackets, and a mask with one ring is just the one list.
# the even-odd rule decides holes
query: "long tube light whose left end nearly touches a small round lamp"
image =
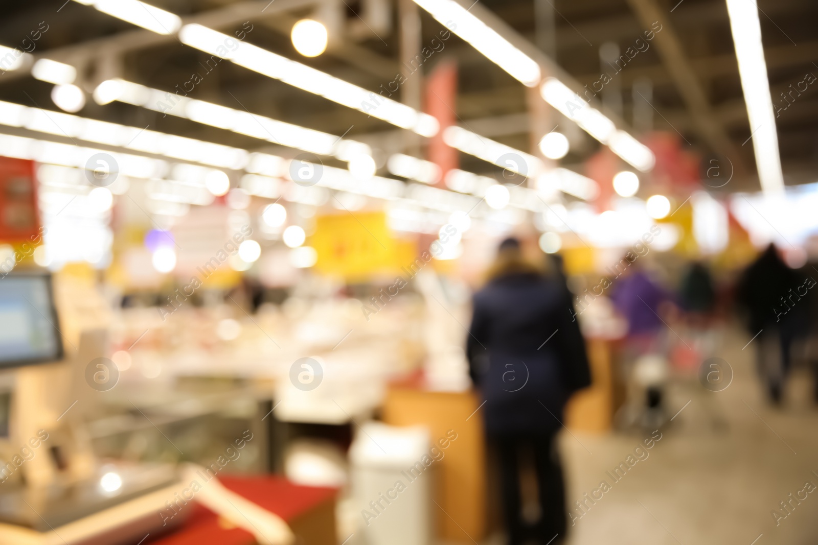
{"label": "long tube light whose left end nearly touches a small round lamp", "polygon": [[100,83],[94,91],[94,99],[101,104],[110,101],[125,102],[296,150],[335,155],[342,160],[348,160],[348,150],[351,146],[357,148],[357,154],[372,153],[371,148],[362,142],[342,141],[338,136],[326,132],[299,127],[263,115],[250,114],[244,109],[227,108],[211,102],[162,92],[122,79],[109,79]]}

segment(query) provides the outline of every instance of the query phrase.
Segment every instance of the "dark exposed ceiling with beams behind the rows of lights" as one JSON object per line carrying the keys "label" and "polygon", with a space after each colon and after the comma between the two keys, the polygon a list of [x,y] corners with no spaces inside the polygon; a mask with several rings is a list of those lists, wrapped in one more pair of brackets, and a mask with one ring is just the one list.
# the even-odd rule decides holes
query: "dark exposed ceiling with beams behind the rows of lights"
{"label": "dark exposed ceiling with beams behind the rows of lights", "polygon": [[[4,7],[0,45],[29,51],[29,63],[48,58],[75,66],[76,83],[89,97],[78,113],[85,118],[149,126],[152,131],[284,157],[298,154],[298,150],[276,145],[275,139],[165,115],[162,106],[140,107],[124,101],[98,105],[90,100],[98,83],[122,78],[171,94],[184,89],[182,94],[190,99],[365,142],[381,164],[391,154],[422,153],[424,137],[411,130],[235,62],[213,62],[209,54],[183,43],[187,40],[178,34],[139,29],[83,5],[88,0],[64,1],[30,0]],[[178,15],[184,24],[196,23],[240,36],[247,43],[374,93],[393,83],[398,73],[407,72],[402,68],[407,51],[431,44],[445,31],[410,0],[148,3]],[[818,74],[818,34],[814,29],[818,4],[808,0],[760,0],[758,7],[784,181],[788,185],[815,181],[818,84],[804,82],[807,74]],[[758,189],[753,148],[748,143],[753,128],[748,123],[725,2],[479,0],[473,12],[496,17],[516,37],[536,44],[542,54],[559,65],[560,73],[569,74],[579,87],[599,85],[606,59],[616,59],[621,51],[636,47],[638,54],[627,66],[609,70],[613,78],[600,93],[605,114],[634,136],[659,129],[678,134],[685,149],[698,152],[704,159],[730,158],[736,181],[729,189]],[[330,44],[321,56],[301,56],[290,40],[290,29],[304,17],[330,22]],[[636,44],[646,31],[658,28],[661,30],[651,41]],[[573,123],[543,108],[545,103],[537,100],[537,90],[519,83],[470,44],[454,35],[436,43],[439,50],[420,72],[429,74],[441,60],[457,61],[456,118],[461,126],[537,154],[540,137],[560,124],[572,142],[563,163],[578,169],[598,149],[600,144]],[[422,81],[422,76],[407,78],[393,98],[422,110]],[[34,79],[29,69],[8,71],[0,75],[0,100],[56,110],[52,87],[51,83]],[[60,135],[56,134],[56,138]],[[471,172],[501,172],[467,154],[461,154],[460,159],[462,168]],[[330,164],[333,160],[329,159]]]}

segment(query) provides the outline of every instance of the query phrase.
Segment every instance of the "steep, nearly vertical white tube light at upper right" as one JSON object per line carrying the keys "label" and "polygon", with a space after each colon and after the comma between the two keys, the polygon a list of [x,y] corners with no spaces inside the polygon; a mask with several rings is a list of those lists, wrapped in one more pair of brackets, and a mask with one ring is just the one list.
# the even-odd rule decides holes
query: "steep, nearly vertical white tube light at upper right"
{"label": "steep, nearly vertical white tube light at upper right", "polygon": [[758,179],[765,193],[780,194],[784,190],[784,174],[781,172],[758,7],[753,0],[727,0],[727,12],[730,14],[741,87],[753,132]]}

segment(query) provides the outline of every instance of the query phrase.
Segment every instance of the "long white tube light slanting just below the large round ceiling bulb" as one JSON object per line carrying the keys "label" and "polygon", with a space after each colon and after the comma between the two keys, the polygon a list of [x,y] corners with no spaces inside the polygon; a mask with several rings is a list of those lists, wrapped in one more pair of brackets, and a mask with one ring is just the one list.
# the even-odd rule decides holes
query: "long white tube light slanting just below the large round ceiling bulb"
{"label": "long white tube light slanting just below the large round ceiling bulb", "polygon": [[226,51],[224,41],[233,39],[227,34],[209,29],[202,25],[184,25],[179,32],[182,43],[205,51],[210,55],[231,60],[236,65],[263,74],[268,78],[278,79],[293,87],[337,102],[348,108],[357,109],[364,114],[392,123],[416,132],[421,136],[434,136],[438,133],[438,120],[398,101],[357,87],[343,79],[335,78],[307,65],[277,55],[251,43],[241,42],[234,51]]}

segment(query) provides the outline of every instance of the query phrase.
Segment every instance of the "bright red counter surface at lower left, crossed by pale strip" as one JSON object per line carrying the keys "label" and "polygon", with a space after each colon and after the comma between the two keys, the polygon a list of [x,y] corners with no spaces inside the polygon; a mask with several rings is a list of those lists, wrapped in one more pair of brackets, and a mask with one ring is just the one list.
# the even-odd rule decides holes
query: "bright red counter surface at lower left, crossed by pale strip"
{"label": "bright red counter surface at lower left, crossed by pale strip", "polygon": [[[294,485],[280,476],[219,476],[222,485],[290,523],[295,517],[335,496],[335,489]],[[173,534],[144,543],[152,545],[251,545],[253,535],[244,529],[224,529],[213,511],[192,504],[191,516]],[[144,545],[143,543],[143,545]]]}

